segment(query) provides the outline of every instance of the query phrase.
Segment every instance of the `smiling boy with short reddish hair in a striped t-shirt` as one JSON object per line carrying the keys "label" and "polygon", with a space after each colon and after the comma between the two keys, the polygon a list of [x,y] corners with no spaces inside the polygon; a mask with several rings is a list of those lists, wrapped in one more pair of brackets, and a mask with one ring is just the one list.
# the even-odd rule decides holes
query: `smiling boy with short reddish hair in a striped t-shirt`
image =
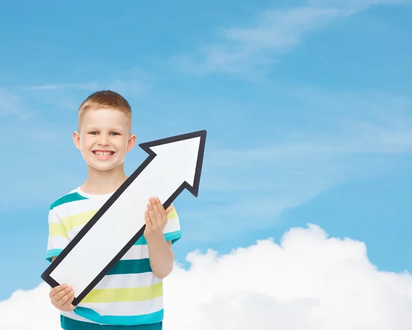
{"label": "smiling boy with short reddish hair in a striped t-shirt", "polygon": [[[51,205],[47,260],[54,261],[126,180],[124,157],[136,139],[131,126],[130,105],[118,93],[98,91],[80,104],[73,142],[87,163],[87,180]],[[62,329],[162,329],[162,283],[172,272],[171,246],[181,237],[179,217],[172,205],[165,210],[158,198],[150,198],[145,221],[144,235],[78,306],[71,305],[70,283],[49,292]]]}

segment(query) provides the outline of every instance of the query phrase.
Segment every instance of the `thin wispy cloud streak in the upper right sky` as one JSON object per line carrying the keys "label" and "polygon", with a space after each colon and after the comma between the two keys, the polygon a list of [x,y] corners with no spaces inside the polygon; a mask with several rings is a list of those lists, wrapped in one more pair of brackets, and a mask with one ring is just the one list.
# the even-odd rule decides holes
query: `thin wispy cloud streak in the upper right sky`
{"label": "thin wispy cloud streak in the upper right sky", "polygon": [[220,29],[220,41],[201,45],[193,55],[172,58],[187,73],[226,73],[249,80],[262,78],[266,67],[296,47],[308,34],[325,28],[371,5],[402,0],[313,0],[308,5],[284,10],[266,10],[247,27]]}

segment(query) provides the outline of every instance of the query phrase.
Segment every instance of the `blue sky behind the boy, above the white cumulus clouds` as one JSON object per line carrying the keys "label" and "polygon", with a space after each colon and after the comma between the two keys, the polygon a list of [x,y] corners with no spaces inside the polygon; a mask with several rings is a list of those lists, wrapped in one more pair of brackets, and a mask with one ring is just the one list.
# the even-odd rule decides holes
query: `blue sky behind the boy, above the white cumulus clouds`
{"label": "blue sky behind the boy, above the white cumulus clouds", "polygon": [[98,89],[129,100],[139,143],[208,131],[199,196],[174,203],[179,262],[313,223],[411,272],[411,15],[391,0],[4,3],[0,300],[41,281],[49,204],[86,175],[76,111]]}

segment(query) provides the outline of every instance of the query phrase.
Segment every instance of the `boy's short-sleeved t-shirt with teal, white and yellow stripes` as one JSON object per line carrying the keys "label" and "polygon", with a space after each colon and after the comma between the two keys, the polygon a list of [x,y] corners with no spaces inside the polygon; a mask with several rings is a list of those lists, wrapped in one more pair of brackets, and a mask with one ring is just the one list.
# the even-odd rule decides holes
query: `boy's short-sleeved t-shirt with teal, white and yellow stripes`
{"label": "boy's short-sleeved t-shirt with teal, white and yellow stripes", "polygon": [[[91,195],[78,187],[50,206],[48,261],[59,255],[112,194]],[[168,213],[163,233],[165,240],[172,244],[180,239],[181,228],[175,209]],[[128,325],[130,330],[161,329],[162,285],[162,279],[152,273],[147,242],[142,235],[74,311],[60,311],[61,327],[95,330],[105,325],[104,329],[111,330],[111,325]]]}

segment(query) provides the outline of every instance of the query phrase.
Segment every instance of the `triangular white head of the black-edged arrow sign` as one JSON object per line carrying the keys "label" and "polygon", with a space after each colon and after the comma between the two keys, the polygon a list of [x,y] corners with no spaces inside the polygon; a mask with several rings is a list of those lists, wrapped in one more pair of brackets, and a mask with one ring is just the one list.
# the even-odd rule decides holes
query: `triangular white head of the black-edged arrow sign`
{"label": "triangular white head of the black-edged arrow sign", "polygon": [[199,183],[205,153],[206,130],[176,135],[165,139],[139,144],[152,158],[165,162],[166,175],[183,180],[186,188],[198,196]]}

